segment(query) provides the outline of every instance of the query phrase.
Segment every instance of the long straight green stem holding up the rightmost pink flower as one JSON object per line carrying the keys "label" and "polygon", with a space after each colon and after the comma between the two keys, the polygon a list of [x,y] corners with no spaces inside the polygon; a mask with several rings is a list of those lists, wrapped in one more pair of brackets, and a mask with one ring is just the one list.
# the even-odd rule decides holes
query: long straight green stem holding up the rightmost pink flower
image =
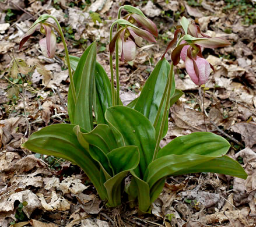
{"label": "long straight green stem holding up the rightmost pink flower", "polygon": [[162,119],[162,122],[161,122],[159,134],[158,134],[157,140],[156,140],[156,147],[155,147],[155,151],[154,151],[154,155],[153,155],[153,161],[156,159],[156,155],[157,155],[158,150],[159,150],[159,144],[160,144],[160,141],[161,141],[162,136],[163,136],[164,124],[166,123],[165,119],[167,117],[167,112],[169,112],[171,84],[173,82],[172,76],[173,76],[173,62],[171,62],[171,68],[170,68],[170,72],[169,72],[169,75],[168,75],[168,83],[166,84],[166,87],[168,87],[167,95],[163,96],[163,97],[166,97],[166,104],[164,106],[163,119]]}

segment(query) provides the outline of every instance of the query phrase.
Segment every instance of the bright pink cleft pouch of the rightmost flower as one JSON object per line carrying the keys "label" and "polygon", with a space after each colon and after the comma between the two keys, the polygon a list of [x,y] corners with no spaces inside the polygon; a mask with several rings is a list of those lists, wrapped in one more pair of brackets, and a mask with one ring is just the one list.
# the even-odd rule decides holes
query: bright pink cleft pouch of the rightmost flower
{"label": "bright pink cleft pouch of the rightmost flower", "polygon": [[197,85],[205,84],[211,73],[211,66],[208,61],[204,58],[200,58],[199,56],[195,59],[195,63],[199,71],[199,77],[197,76],[197,73],[195,73],[193,60],[188,58],[188,56],[186,57],[185,66],[188,76],[190,76],[191,80]]}

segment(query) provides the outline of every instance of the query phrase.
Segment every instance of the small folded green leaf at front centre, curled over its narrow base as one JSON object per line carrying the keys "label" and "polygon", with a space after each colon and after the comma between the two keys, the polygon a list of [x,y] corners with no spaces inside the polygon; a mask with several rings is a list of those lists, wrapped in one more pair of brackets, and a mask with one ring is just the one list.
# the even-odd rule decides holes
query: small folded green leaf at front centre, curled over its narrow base
{"label": "small folded green leaf at front centre, curled over its narrow base", "polygon": [[139,164],[138,147],[125,146],[117,148],[107,154],[114,168],[113,178],[104,183],[108,194],[108,205],[115,207],[121,204],[121,183],[129,171]]}

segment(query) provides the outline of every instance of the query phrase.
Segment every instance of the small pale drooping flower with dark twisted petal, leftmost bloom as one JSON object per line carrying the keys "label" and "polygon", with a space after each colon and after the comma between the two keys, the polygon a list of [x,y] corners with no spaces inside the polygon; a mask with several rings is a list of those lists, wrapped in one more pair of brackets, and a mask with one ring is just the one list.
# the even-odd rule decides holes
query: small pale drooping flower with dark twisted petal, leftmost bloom
{"label": "small pale drooping flower with dark twisted petal, leftmost bloom", "polygon": [[19,49],[23,47],[24,43],[29,40],[30,36],[40,27],[40,32],[45,34],[45,38],[42,38],[39,41],[40,49],[43,52],[43,55],[47,58],[53,58],[56,50],[56,36],[52,27],[55,27],[50,22],[38,23],[36,26],[30,27],[29,31],[24,35],[19,44]]}

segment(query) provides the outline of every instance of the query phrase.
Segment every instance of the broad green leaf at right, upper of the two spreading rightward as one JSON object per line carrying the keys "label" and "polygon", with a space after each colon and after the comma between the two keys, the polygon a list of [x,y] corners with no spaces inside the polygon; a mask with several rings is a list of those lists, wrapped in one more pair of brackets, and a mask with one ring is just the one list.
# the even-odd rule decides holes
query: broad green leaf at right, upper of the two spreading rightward
{"label": "broad green leaf at right, upper of the two spreading rightward", "polygon": [[229,151],[230,144],[223,137],[210,132],[195,132],[179,136],[163,147],[157,158],[169,154],[199,154],[218,157]]}

